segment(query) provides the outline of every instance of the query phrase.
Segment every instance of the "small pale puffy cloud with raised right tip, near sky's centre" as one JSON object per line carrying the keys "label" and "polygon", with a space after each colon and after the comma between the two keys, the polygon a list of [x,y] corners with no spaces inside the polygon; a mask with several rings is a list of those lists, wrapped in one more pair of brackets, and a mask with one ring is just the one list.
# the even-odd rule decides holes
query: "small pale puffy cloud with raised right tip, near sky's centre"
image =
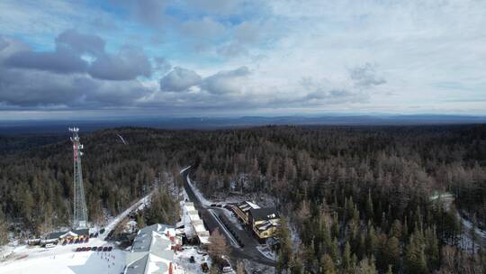
{"label": "small pale puffy cloud with raised right tip, near sky's centre", "polygon": [[249,75],[247,67],[220,71],[202,80],[201,88],[211,94],[233,94],[241,91],[241,81]]}

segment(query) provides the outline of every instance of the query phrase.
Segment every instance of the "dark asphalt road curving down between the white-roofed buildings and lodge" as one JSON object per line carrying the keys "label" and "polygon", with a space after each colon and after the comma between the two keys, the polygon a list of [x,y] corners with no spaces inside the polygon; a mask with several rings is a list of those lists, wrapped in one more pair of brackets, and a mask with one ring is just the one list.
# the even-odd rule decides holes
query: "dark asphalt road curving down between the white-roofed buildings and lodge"
{"label": "dark asphalt road curving down between the white-roofed buildings and lodge", "polygon": [[[226,233],[223,233],[223,230],[226,230],[224,225],[220,224],[218,220],[214,217],[214,215],[211,215],[212,211],[215,215],[217,215],[219,218],[224,218],[223,214],[223,208],[220,207],[206,207],[202,205],[201,201],[199,198],[194,194],[193,189],[189,186],[189,183],[187,182],[187,175],[189,174],[190,169],[184,170],[182,173],[182,176],[184,177],[184,188],[185,192],[187,193],[187,196],[189,196],[189,199],[193,202],[194,207],[201,213],[202,216],[202,221],[206,225],[206,227],[212,232],[214,229],[219,228],[220,232],[225,235],[227,238],[228,242],[231,243],[231,239],[229,239],[229,236]],[[228,222],[228,225],[231,226],[231,229],[238,234],[238,238],[243,242],[245,245],[243,248],[241,247],[235,247],[233,245],[230,245],[231,247],[231,256],[236,259],[247,259],[247,260],[252,260],[256,261],[261,264],[265,264],[267,266],[272,266],[275,267],[275,260],[270,260],[266,258],[260,251],[257,250],[257,240],[251,235],[251,232],[244,231],[244,230],[238,230],[236,225],[232,224],[231,222]],[[227,230],[226,230],[227,231]]]}

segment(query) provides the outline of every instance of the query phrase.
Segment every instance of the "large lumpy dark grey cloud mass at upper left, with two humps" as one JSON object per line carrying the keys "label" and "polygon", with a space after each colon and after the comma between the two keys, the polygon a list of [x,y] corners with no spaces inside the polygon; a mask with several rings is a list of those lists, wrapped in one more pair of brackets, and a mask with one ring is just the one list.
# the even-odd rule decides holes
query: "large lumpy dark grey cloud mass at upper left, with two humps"
{"label": "large lumpy dark grey cloud mass at upper left, with two humps", "polygon": [[[151,75],[151,63],[143,50],[123,47],[117,54],[111,54],[104,47],[105,41],[97,35],[67,30],[56,38],[56,50],[20,50],[5,59],[4,64],[8,68],[61,74],[87,72],[94,78],[116,81]],[[88,63],[82,58],[84,54],[91,54],[94,60]]]}

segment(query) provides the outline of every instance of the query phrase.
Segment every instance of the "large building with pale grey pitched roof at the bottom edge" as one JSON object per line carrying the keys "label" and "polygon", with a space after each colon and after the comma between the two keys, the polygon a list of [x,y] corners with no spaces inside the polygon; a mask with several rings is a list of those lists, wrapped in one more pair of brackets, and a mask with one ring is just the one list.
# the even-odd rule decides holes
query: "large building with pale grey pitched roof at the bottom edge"
{"label": "large building with pale grey pitched roof at the bottom edge", "polygon": [[126,256],[124,274],[179,273],[174,250],[181,240],[175,229],[166,224],[153,224],[139,230],[130,253]]}

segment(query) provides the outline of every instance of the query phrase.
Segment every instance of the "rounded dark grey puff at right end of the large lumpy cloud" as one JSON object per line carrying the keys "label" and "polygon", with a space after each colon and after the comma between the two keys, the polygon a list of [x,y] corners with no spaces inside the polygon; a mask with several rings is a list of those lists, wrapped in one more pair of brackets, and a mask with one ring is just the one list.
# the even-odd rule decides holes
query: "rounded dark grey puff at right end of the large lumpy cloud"
{"label": "rounded dark grey puff at right end of the large lumpy cloud", "polygon": [[143,50],[125,48],[116,55],[103,53],[94,60],[88,73],[94,78],[119,81],[149,77],[151,71],[150,61]]}

